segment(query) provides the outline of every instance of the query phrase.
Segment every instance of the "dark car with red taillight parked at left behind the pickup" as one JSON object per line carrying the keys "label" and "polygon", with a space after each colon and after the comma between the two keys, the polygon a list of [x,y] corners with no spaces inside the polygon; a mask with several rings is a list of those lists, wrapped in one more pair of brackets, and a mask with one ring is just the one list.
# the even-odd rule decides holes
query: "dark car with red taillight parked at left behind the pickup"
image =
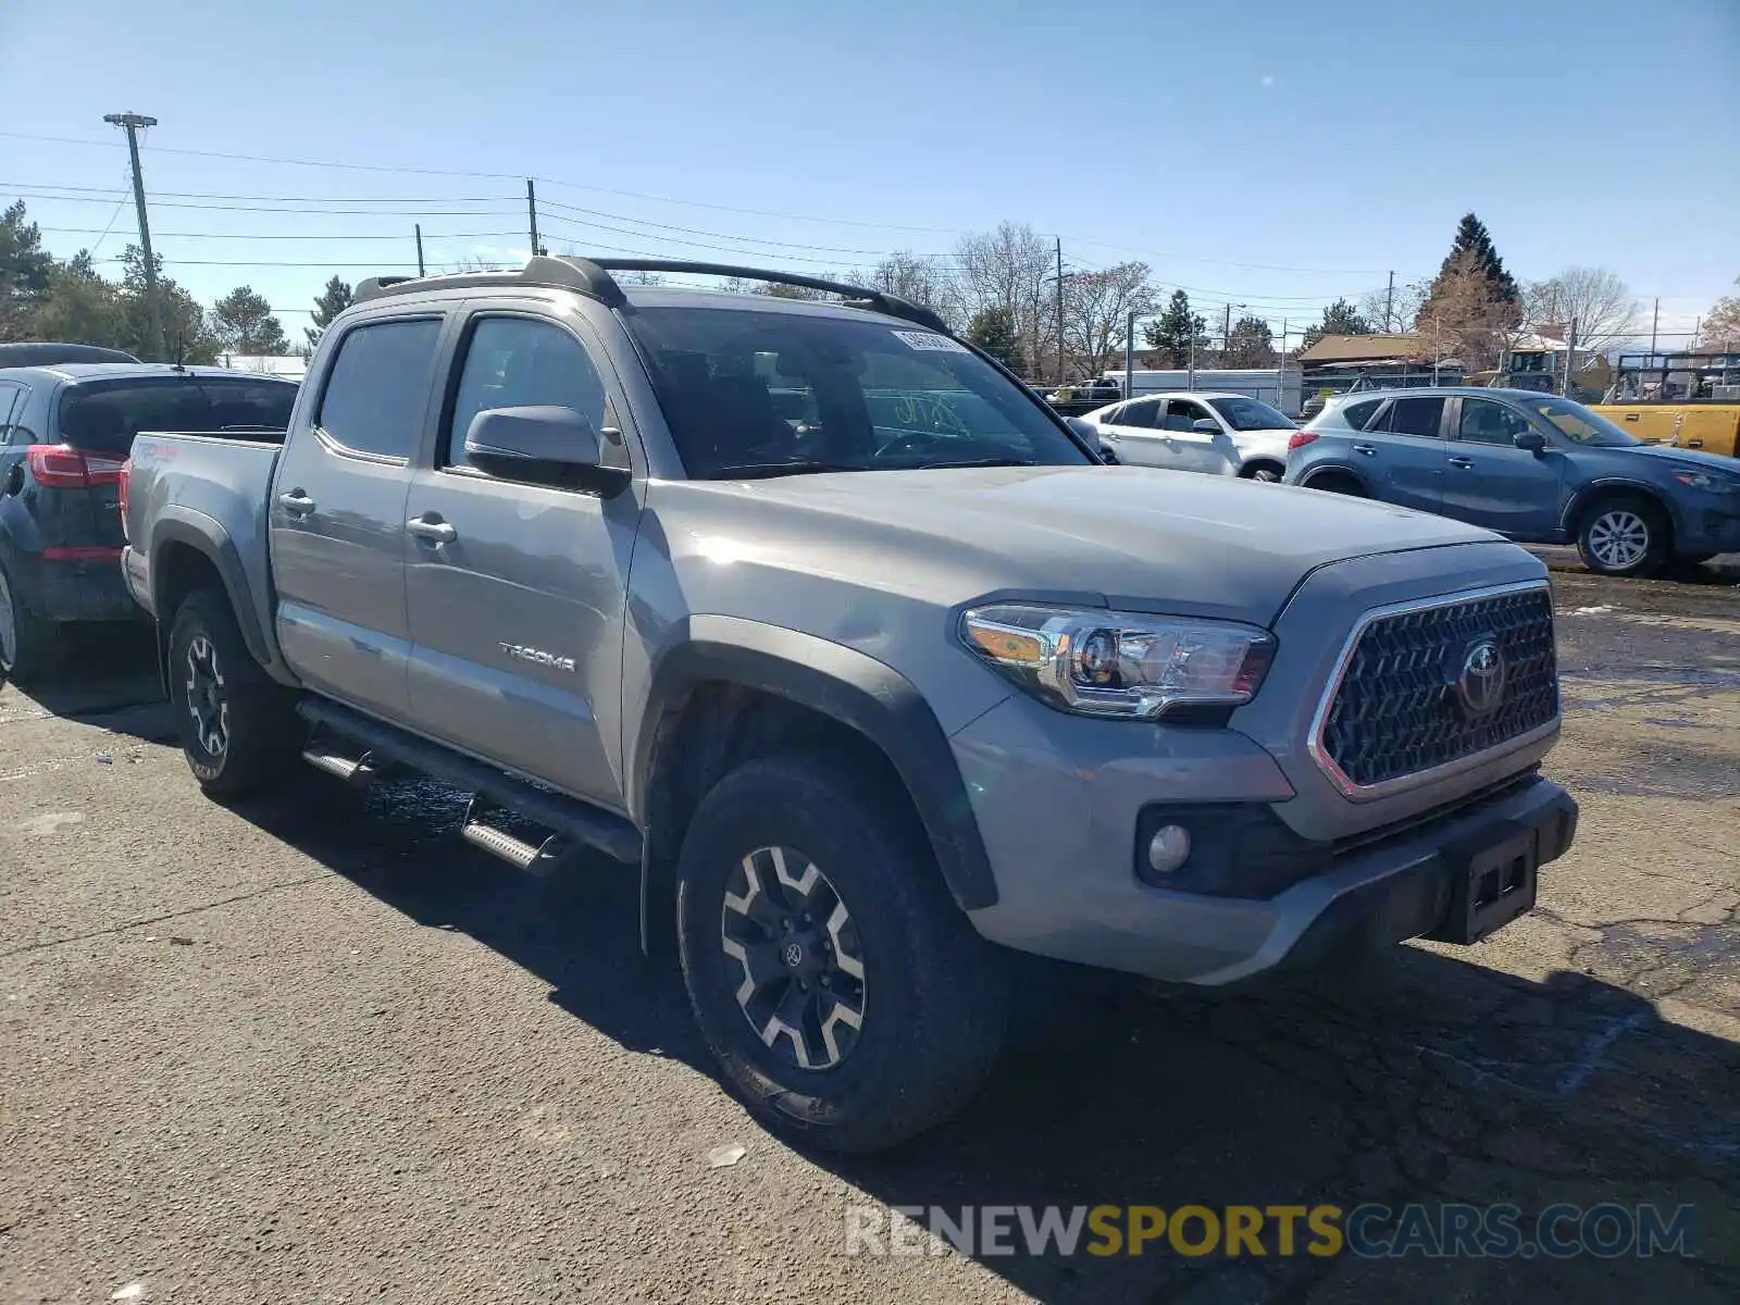
{"label": "dark car with red taillight parked at left behind the pickup", "polygon": [[136,621],[120,578],[120,468],[144,428],[284,430],[296,386],[212,367],[0,371],[0,675],[42,677],[71,621]]}

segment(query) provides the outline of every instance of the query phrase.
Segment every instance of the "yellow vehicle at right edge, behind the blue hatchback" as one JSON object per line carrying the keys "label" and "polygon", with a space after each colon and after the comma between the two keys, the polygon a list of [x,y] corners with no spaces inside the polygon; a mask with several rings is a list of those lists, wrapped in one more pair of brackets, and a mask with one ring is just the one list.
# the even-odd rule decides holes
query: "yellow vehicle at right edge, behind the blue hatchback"
{"label": "yellow vehicle at right edge, behind the blue hatchback", "polygon": [[1740,353],[1625,353],[1590,409],[1646,444],[1740,456]]}

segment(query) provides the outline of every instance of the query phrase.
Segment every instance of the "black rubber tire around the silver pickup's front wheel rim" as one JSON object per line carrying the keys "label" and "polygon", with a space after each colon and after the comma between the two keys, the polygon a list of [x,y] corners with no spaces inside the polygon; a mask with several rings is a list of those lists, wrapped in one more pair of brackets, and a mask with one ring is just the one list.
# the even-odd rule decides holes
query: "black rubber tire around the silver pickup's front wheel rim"
{"label": "black rubber tire around the silver pickup's front wheel rim", "polygon": [[[748,964],[726,954],[726,894],[766,847],[807,858],[851,912],[863,1023],[832,1068],[792,1063],[785,1037],[764,1042],[736,995]],[[875,1152],[915,1138],[973,1098],[1002,1046],[1007,954],[974,933],[898,797],[820,757],[750,762],[706,793],[677,863],[677,943],[726,1084],[804,1145]]]}

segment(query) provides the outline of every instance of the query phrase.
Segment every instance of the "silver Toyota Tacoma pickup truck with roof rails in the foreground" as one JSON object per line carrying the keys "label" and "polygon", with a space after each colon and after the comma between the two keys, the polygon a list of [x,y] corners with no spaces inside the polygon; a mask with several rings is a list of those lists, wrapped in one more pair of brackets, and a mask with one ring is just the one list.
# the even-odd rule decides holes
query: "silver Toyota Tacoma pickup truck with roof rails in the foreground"
{"label": "silver Toyota Tacoma pickup truck with roof rails in the foreground", "polygon": [[[659,266],[833,298],[611,275]],[[125,525],[207,790],[411,767],[522,870],[635,867],[726,1082],[833,1148],[969,1100],[1011,950],[1227,985],[1474,943],[1576,825],[1538,560],[1105,466],[873,291],[364,282],[282,447],[144,435]]]}

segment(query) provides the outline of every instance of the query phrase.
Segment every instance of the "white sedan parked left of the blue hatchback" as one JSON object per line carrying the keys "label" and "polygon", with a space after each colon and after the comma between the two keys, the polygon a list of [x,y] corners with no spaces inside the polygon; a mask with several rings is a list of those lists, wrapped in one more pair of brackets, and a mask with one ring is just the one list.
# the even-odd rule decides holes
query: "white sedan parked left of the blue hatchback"
{"label": "white sedan parked left of the blue hatchback", "polygon": [[1108,404],[1082,418],[1126,466],[1279,480],[1298,426],[1249,395],[1176,390]]}

